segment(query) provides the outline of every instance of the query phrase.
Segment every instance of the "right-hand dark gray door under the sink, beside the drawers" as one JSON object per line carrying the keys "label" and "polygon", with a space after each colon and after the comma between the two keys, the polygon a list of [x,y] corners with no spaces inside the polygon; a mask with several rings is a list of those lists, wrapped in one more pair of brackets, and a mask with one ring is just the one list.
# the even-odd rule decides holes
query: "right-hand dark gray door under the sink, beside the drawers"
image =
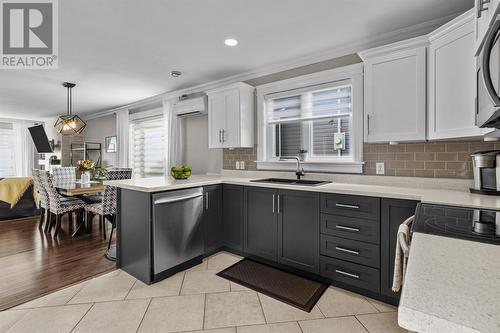
{"label": "right-hand dark gray door under the sink, beside the drawers", "polygon": [[319,273],[319,193],[279,191],[278,262]]}

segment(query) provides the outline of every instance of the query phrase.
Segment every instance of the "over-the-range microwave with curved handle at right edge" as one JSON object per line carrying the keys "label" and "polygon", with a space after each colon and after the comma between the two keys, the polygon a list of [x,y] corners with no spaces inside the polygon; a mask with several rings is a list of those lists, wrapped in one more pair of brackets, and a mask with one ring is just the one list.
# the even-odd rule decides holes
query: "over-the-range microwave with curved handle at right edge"
{"label": "over-the-range microwave with curved handle at right edge", "polygon": [[500,128],[500,15],[491,24],[477,57],[476,124]]}

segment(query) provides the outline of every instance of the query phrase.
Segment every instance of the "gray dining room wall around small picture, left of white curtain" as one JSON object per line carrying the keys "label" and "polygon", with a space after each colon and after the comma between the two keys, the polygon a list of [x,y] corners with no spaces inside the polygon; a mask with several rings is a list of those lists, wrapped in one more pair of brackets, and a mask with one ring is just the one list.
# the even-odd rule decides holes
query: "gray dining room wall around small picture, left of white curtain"
{"label": "gray dining room wall around small picture, left of white curtain", "polygon": [[117,153],[106,153],[104,138],[116,135],[116,116],[111,114],[100,118],[87,120],[84,131],[86,142],[100,142],[102,144],[102,165],[104,167],[116,167],[118,163]]}

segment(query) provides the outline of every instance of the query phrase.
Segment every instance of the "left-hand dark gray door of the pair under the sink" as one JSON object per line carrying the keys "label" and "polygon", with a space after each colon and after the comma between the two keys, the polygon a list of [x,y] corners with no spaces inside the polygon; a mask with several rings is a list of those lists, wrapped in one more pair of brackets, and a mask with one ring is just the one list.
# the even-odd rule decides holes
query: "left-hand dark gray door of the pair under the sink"
{"label": "left-hand dark gray door of the pair under the sink", "polygon": [[277,259],[277,196],[274,189],[245,187],[244,251],[272,261]]}

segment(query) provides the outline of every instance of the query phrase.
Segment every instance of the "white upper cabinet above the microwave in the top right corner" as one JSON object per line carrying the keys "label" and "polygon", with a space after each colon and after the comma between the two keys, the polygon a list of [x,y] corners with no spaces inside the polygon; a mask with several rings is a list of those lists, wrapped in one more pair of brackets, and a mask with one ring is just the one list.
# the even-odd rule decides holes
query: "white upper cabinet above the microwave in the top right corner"
{"label": "white upper cabinet above the microwave in the top right corner", "polygon": [[499,14],[500,0],[474,0],[474,54],[477,54],[486,32]]}

